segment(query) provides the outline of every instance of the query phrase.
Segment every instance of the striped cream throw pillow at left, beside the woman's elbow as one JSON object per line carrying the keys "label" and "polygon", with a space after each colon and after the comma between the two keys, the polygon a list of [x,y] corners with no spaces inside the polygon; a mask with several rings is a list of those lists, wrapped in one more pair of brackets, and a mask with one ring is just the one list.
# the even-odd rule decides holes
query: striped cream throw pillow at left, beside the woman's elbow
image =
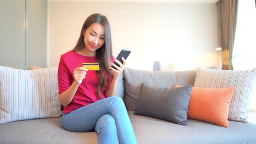
{"label": "striped cream throw pillow at left, beside the woman's elbow", "polygon": [[21,70],[0,66],[0,124],[60,116],[57,68]]}

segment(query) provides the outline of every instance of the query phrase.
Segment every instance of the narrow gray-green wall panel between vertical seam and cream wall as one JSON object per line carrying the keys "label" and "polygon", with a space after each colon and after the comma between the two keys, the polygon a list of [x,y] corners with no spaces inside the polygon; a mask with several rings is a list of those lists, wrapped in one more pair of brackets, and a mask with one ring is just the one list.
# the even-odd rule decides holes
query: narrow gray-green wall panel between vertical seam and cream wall
{"label": "narrow gray-green wall panel between vertical seam and cream wall", "polygon": [[26,69],[30,65],[45,68],[47,64],[47,1],[26,0]]}

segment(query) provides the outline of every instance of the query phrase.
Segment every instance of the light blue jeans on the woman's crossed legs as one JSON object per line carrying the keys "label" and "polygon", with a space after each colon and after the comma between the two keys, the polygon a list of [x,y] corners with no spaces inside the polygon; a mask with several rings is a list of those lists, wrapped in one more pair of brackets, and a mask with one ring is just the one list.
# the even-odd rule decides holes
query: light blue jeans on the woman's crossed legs
{"label": "light blue jeans on the woman's crossed legs", "polygon": [[73,132],[96,131],[98,143],[137,143],[124,102],[109,97],[74,110],[61,118],[62,127]]}

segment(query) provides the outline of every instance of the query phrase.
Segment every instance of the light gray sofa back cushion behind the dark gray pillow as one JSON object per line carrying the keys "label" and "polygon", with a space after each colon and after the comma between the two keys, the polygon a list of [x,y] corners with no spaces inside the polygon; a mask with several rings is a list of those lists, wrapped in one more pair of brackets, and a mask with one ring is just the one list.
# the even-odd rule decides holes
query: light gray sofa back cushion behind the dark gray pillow
{"label": "light gray sofa back cushion behind the dark gray pillow", "polygon": [[196,70],[187,71],[147,71],[125,68],[125,105],[127,110],[135,110],[141,84],[152,87],[172,88],[194,85]]}

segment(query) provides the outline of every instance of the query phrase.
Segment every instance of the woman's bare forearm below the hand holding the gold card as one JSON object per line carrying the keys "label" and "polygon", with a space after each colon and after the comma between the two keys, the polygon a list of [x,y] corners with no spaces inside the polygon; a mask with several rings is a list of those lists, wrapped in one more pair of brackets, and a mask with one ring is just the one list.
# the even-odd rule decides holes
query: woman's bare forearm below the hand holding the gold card
{"label": "woman's bare forearm below the hand holding the gold card", "polygon": [[75,92],[77,92],[78,87],[79,83],[74,81],[65,92],[59,95],[61,105],[66,106],[72,101]]}

